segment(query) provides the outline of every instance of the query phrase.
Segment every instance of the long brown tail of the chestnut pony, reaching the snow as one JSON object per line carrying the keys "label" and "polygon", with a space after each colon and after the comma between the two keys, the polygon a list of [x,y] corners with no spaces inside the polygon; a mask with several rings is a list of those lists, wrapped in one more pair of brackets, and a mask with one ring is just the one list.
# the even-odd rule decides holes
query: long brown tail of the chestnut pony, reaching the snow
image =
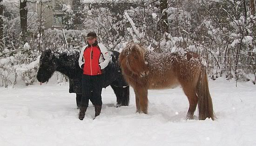
{"label": "long brown tail of the chestnut pony, reaching the snow", "polygon": [[198,96],[199,120],[205,120],[206,118],[214,120],[215,115],[213,112],[212,99],[209,93],[208,78],[205,68],[203,68],[201,76],[199,77],[196,94]]}

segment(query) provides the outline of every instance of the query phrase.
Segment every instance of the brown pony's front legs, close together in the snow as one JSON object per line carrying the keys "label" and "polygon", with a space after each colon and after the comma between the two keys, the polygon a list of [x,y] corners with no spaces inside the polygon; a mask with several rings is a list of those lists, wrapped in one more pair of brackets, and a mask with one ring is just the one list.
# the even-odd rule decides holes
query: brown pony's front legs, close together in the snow
{"label": "brown pony's front legs, close together in the snow", "polygon": [[148,114],[148,89],[135,87],[136,108],[138,113]]}

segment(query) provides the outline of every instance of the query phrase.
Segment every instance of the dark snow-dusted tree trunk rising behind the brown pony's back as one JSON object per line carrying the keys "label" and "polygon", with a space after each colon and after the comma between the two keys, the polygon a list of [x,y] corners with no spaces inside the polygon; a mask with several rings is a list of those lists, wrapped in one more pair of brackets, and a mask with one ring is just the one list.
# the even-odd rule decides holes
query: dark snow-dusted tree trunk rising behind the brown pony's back
{"label": "dark snow-dusted tree trunk rising behind the brown pony's back", "polygon": [[168,14],[166,12],[166,9],[168,8],[168,0],[160,0],[160,12],[161,12],[161,26],[162,26],[162,32],[168,32],[169,33],[169,26],[168,26]]}

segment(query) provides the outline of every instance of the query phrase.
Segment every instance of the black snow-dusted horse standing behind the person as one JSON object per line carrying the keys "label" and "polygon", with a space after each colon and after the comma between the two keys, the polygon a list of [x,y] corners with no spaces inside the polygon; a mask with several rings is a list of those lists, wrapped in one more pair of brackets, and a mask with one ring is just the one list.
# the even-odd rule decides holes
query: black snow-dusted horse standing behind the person
{"label": "black snow-dusted horse standing behind the person", "polygon": [[[102,87],[111,86],[116,95],[116,107],[128,106],[129,104],[129,85],[125,82],[120,64],[118,62],[119,52],[111,51],[112,60],[104,69],[104,82]],[[69,78],[69,93],[76,93],[76,105],[79,108],[81,101],[81,77],[82,70],[79,67],[80,51],[65,50],[51,51],[50,49],[43,51],[40,57],[40,67],[37,73],[37,80],[40,83],[48,82],[54,71],[59,71]]]}

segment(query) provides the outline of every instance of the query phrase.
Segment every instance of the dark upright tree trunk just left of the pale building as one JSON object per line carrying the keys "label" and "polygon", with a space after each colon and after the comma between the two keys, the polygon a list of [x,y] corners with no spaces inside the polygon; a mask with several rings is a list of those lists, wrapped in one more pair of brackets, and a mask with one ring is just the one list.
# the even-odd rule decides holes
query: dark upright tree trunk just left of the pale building
{"label": "dark upright tree trunk just left of the pale building", "polygon": [[25,44],[27,38],[27,0],[20,0],[20,29],[21,42]]}

